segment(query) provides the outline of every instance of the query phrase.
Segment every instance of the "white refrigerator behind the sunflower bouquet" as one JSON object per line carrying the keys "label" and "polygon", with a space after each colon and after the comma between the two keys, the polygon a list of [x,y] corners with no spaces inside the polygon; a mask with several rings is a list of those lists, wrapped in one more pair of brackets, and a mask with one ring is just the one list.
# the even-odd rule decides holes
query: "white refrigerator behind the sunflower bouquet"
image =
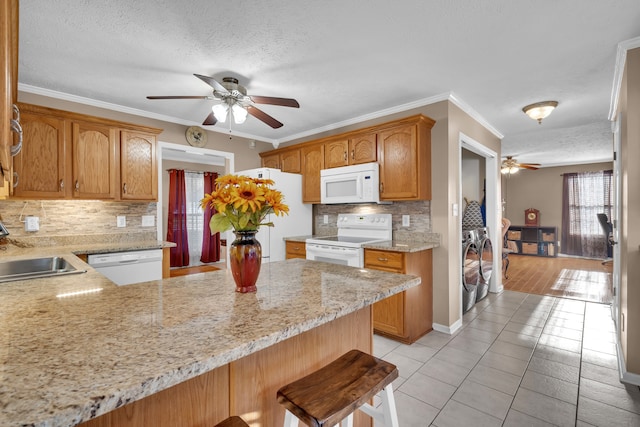
{"label": "white refrigerator behind the sunflower bouquet", "polygon": [[275,184],[271,188],[282,193],[284,203],[289,206],[289,215],[269,214],[265,222],[273,222],[273,227],[260,227],[256,237],[262,245],[263,263],[283,261],[286,255],[285,237],[311,235],[313,207],[302,203],[302,175],[272,168],[238,171],[236,175],[272,179]]}

